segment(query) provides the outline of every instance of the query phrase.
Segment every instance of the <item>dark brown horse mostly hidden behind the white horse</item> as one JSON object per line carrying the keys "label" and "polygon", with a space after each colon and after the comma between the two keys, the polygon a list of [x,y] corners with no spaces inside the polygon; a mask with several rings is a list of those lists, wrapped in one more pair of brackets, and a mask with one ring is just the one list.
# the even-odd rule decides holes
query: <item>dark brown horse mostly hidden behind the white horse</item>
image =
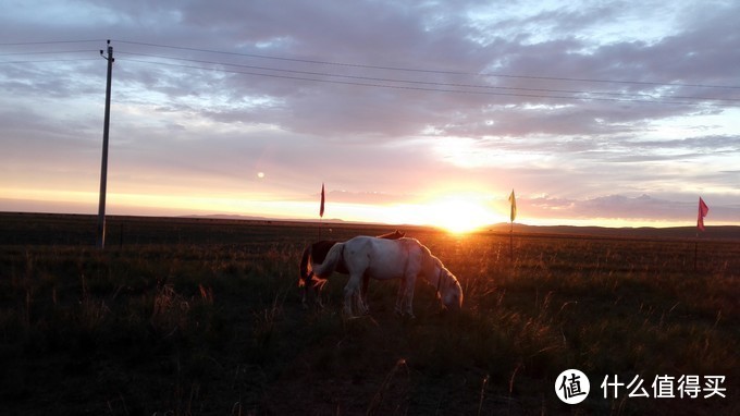
{"label": "dark brown horse mostly hidden behind the white horse", "polygon": [[[403,238],[406,236],[405,232],[400,232],[398,230],[379,235],[379,238],[386,238],[386,240],[398,240]],[[318,241],[304,250],[304,255],[300,258],[300,279],[298,280],[298,286],[304,287],[304,293],[303,293],[303,303],[304,306],[308,306],[308,291],[309,289],[313,289],[313,295],[314,298],[318,299],[319,305],[321,305],[321,290],[323,289],[324,284],[326,284],[326,279],[321,279],[317,276],[313,274],[313,270],[311,270],[311,264],[322,264],[324,259],[326,258],[326,253],[334,246],[334,244],[338,243],[338,241],[333,241],[333,240],[322,240]],[[336,265],[336,271],[340,273],[347,274],[347,267],[344,265],[344,259],[340,259],[340,261]],[[368,281],[369,279],[362,279],[362,289],[361,289],[361,294],[366,295],[368,292]]]}

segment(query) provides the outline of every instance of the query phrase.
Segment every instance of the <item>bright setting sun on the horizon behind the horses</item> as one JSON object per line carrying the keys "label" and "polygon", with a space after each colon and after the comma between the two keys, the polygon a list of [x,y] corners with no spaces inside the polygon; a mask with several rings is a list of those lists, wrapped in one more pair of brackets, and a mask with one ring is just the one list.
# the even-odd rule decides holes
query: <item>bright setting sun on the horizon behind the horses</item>
{"label": "bright setting sun on the horizon behind the horses", "polygon": [[451,197],[425,205],[427,222],[455,234],[478,231],[495,222],[495,213],[482,200]]}

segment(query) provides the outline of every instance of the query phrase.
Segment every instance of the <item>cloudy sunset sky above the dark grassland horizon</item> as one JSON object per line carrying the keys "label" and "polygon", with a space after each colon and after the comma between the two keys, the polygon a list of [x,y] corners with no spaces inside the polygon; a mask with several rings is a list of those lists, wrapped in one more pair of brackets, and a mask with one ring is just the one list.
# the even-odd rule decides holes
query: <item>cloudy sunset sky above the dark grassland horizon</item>
{"label": "cloudy sunset sky above the dark grassland horizon", "polygon": [[0,211],[740,224],[737,1],[0,8]]}

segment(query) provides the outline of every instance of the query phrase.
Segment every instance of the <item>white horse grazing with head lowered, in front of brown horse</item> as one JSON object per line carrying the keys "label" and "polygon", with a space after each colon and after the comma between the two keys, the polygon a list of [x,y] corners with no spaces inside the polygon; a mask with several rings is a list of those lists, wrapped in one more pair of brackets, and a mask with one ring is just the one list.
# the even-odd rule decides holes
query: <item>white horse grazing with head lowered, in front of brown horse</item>
{"label": "white horse grazing with head lowered, in front of brown horse", "polygon": [[328,279],[342,261],[349,272],[349,281],[344,287],[344,310],[348,316],[354,315],[354,305],[357,305],[360,315],[369,310],[360,291],[363,278],[400,279],[396,298],[396,313],[399,315],[414,317],[411,304],[417,277],[436,286],[437,296],[445,307],[459,309],[462,306],[462,287],[457,278],[415,238],[357,236],[336,243],[322,264],[312,264],[311,267],[318,278]]}

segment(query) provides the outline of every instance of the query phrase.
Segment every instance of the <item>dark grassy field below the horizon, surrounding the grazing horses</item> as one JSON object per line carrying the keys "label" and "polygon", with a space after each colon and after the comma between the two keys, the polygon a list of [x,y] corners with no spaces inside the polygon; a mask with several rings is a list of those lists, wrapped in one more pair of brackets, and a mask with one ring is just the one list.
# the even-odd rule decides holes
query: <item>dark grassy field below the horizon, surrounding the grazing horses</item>
{"label": "dark grassy field below the horizon, surrounding the grazing horses", "polygon": [[[331,233],[329,228],[332,229]],[[419,282],[371,282],[368,317],[301,307],[317,227],[0,215],[0,413],[90,415],[740,414],[740,244],[407,229],[460,280],[460,314]],[[324,224],[323,237],[383,227]],[[589,376],[581,404],[560,371]],[[655,399],[656,376],[725,376],[726,397]],[[636,376],[650,399],[606,376]],[[704,381],[702,381],[703,386]],[[679,391],[673,390],[678,396]]]}

